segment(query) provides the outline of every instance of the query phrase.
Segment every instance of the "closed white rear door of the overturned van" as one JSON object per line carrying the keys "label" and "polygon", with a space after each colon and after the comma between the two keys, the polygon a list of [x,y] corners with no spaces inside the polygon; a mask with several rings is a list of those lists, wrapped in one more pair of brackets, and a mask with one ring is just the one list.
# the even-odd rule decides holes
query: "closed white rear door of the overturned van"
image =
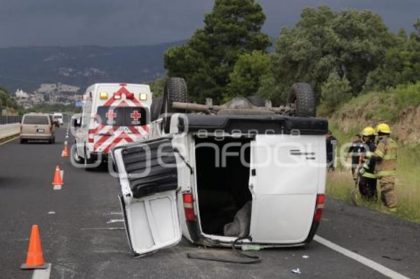
{"label": "closed white rear door of the overturned van", "polygon": [[[251,145],[251,231],[256,243],[294,244],[309,233],[325,165],[325,137],[257,135]],[[322,191],[324,188],[322,188]]]}

